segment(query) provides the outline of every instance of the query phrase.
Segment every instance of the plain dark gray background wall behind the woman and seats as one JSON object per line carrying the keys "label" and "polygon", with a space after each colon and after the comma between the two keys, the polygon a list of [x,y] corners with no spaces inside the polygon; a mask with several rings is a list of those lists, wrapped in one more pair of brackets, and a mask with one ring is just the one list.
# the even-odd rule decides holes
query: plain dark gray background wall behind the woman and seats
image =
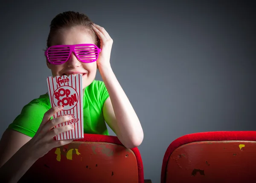
{"label": "plain dark gray background wall behind the woman and seats", "polygon": [[[111,64],[140,118],[145,178],[160,182],[163,155],[194,132],[256,130],[253,1],[9,1],[1,3],[0,135],[47,92],[43,49],[52,18],[87,14],[114,40]],[[99,73],[96,79],[102,80]],[[111,132],[113,135],[113,132]]]}

